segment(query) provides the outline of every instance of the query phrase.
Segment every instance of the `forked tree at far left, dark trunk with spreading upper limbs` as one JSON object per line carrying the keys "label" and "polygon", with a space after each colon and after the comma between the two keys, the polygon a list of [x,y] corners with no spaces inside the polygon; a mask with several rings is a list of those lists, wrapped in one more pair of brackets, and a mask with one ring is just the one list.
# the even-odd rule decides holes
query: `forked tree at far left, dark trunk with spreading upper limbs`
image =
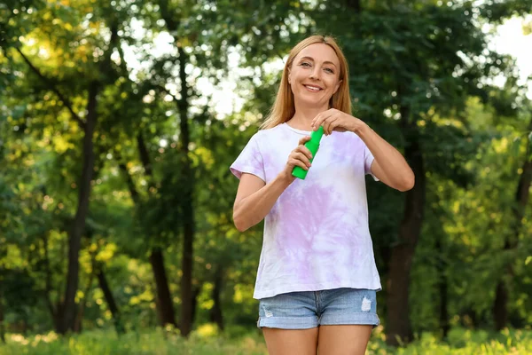
{"label": "forked tree at far left, dark trunk with spreading upper limbs", "polygon": [[[41,4],[35,2],[35,6],[29,4],[28,6],[21,4],[20,10],[16,8],[11,8],[10,12],[17,14],[20,13],[20,16],[27,16],[29,19],[40,19],[43,22],[45,31],[53,31],[58,28],[51,24],[51,18],[54,16],[54,7],[47,4]],[[101,13],[106,13],[108,7],[105,4],[100,4],[99,8]],[[80,7],[79,11],[82,7]],[[87,11],[85,8],[84,11]],[[38,12],[39,18],[31,16],[31,13]],[[61,32],[56,32],[56,40],[59,45],[65,45],[69,43],[74,36],[77,34],[75,31],[82,31],[84,25],[79,22],[79,16],[76,12],[61,12],[62,17],[59,18],[60,30]],[[102,16],[102,19],[105,19]],[[99,21],[99,19],[98,19]],[[62,78],[54,77],[51,74],[43,72],[38,65],[35,64],[35,60],[31,59],[30,56],[25,54],[24,45],[20,43],[16,36],[17,34],[11,34],[11,36],[5,39],[5,42],[12,47],[12,51],[16,51],[18,55],[26,62],[28,75],[35,75],[36,80],[42,83],[42,91],[49,92],[51,95],[59,99],[63,108],[70,114],[71,120],[76,122],[79,125],[79,128],[83,132],[82,138],[82,172],[78,181],[78,201],[77,209],[75,211],[74,220],[72,222],[70,231],[69,231],[69,245],[68,245],[68,266],[67,266],[67,277],[66,277],[66,290],[64,301],[61,304],[59,309],[59,324],[58,331],[59,333],[66,333],[66,331],[74,328],[74,319],[75,319],[75,295],[78,289],[79,282],[79,252],[82,242],[82,234],[84,233],[86,217],[89,211],[89,197],[90,197],[90,185],[94,172],[94,141],[93,135],[98,123],[98,95],[101,93],[102,88],[106,86],[109,82],[113,82],[112,74],[112,60],[111,54],[113,48],[116,45],[117,32],[119,30],[119,24],[116,19],[110,18],[103,20],[103,24],[108,25],[110,31],[110,37],[108,41],[105,40],[105,36],[96,38],[97,44],[92,48],[95,51],[102,51],[102,55],[97,56],[92,63],[86,63],[84,59],[75,59],[79,60],[80,66],[87,70],[87,75],[83,75],[87,80],[81,84],[74,84],[74,81],[71,79],[71,82],[68,83],[71,86],[66,87],[61,84],[65,83],[65,79],[68,79],[68,75],[79,75],[78,73],[62,73]],[[71,31],[74,28],[74,31]],[[27,30],[28,28],[22,28],[22,31]],[[60,33],[60,35],[59,35]],[[31,30],[23,32],[20,36],[33,36]],[[82,46],[80,46],[82,48]],[[51,48],[53,50],[53,48]],[[59,50],[58,50],[59,51]],[[94,75],[92,73],[97,73]],[[59,76],[59,74],[56,74]],[[74,88],[73,88],[74,86]],[[73,90],[78,91],[82,95],[83,91],[86,96],[86,118],[82,118],[82,114],[77,113],[77,110],[81,111],[81,107],[74,106],[74,100],[66,92]]]}

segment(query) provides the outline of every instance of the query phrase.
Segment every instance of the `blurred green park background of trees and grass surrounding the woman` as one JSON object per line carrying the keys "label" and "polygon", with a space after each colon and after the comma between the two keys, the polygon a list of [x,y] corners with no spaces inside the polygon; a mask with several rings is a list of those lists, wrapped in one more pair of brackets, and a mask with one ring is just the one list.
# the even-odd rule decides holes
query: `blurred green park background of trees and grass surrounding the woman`
{"label": "blurred green park background of trees and grass surrounding the woman", "polygon": [[3,0],[0,353],[265,354],[229,166],[336,37],[368,183],[369,354],[532,353],[532,1]]}

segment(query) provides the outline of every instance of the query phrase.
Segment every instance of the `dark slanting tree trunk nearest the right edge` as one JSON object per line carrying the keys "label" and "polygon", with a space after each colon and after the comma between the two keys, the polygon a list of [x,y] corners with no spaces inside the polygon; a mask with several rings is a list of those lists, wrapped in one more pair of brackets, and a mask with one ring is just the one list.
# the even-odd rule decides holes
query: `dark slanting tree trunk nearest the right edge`
{"label": "dark slanting tree trunk nearest the right edge", "polygon": [[[528,126],[528,130],[532,130],[532,121]],[[527,142],[527,153],[525,155],[525,162],[523,163],[523,172],[520,175],[517,190],[515,192],[515,208],[513,208],[513,220],[511,234],[505,238],[504,250],[507,253],[509,250],[514,250],[519,244],[519,234],[522,225],[524,211],[528,204],[528,195],[530,185],[532,184],[532,161],[528,159],[530,156],[530,142]],[[493,303],[493,318],[495,320],[495,328],[497,331],[502,330],[508,323],[508,285],[505,279],[511,280],[513,277],[513,260],[510,260],[506,265],[505,275],[498,280],[495,292],[495,301]]]}

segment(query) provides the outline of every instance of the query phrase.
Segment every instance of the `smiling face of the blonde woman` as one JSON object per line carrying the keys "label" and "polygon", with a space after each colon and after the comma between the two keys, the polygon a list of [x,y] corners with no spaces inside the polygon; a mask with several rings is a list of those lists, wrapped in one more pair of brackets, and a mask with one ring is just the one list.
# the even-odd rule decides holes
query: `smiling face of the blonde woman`
{"label": "smiling face of the blonde woman", "polygon": [[340,60],[325,43],[314,43],[304,48],[293,59],[288,83],[297,104],[326,106],[338,91],[341,81]]}

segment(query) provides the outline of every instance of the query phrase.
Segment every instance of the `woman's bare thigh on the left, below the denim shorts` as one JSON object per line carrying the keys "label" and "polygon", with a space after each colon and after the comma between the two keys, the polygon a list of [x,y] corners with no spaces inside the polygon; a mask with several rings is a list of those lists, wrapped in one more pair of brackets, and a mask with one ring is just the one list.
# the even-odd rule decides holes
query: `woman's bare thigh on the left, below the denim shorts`
{"label": "woman's bare thigh on the left, below the denim shorts", "polygon": [[270,355],[317,354],[317,327],[310,329],[263,327],[262,333]]}

